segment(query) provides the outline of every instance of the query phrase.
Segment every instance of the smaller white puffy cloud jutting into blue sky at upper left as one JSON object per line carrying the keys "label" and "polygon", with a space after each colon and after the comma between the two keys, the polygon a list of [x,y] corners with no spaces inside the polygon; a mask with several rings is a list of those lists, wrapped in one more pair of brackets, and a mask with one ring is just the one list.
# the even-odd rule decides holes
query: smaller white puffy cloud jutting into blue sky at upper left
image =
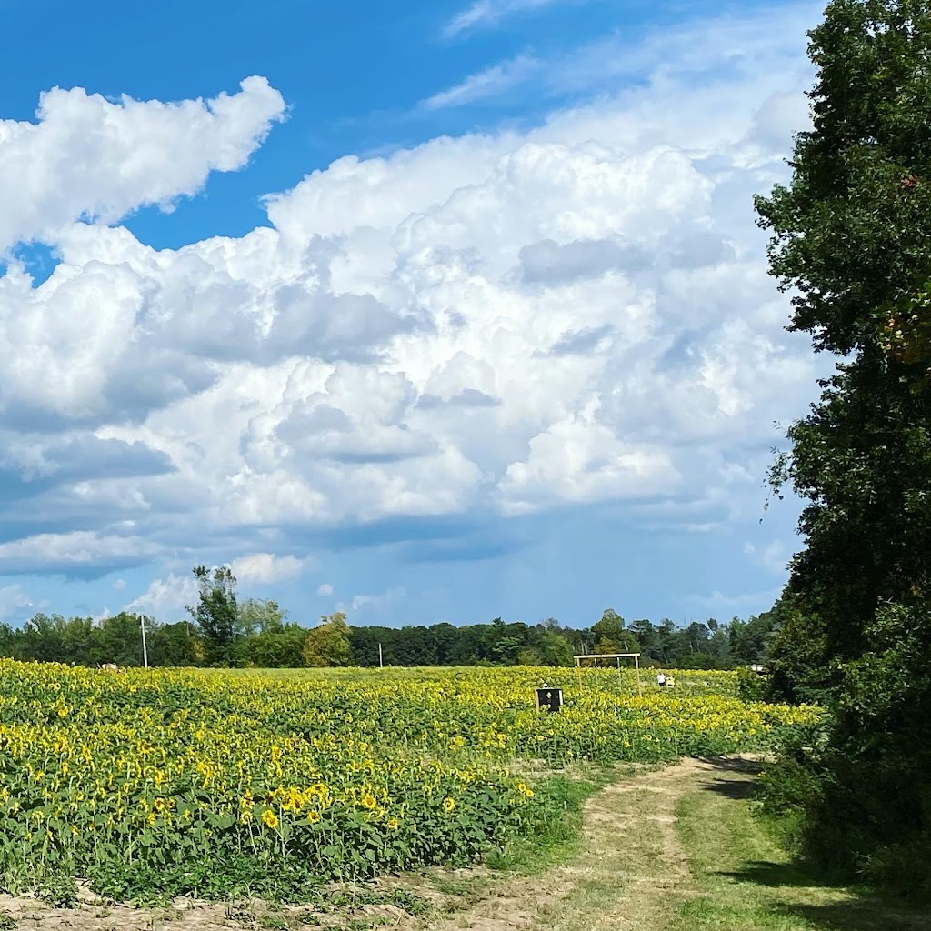
{"label": "smaller white puffy cloud jutting into blue sky at upper left", "polygon": [[144,204],[168,208],[210,171],[242,168],[283,115],[263,77],[177,103],[49,90],[35,123],[0,121],[0,254],[81,217],[110,223]]}

